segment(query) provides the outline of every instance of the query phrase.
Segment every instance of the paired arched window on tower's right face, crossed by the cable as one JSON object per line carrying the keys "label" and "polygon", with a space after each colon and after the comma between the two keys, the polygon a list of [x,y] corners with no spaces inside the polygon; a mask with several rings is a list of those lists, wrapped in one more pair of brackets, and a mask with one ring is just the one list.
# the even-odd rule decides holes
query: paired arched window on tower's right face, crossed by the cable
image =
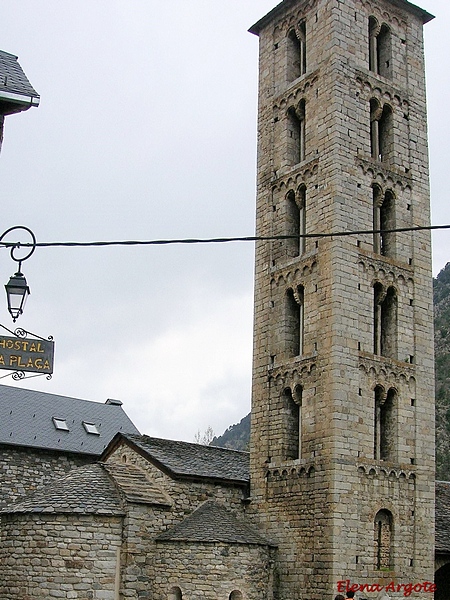
{"label": "paired arched window on tower's right face, crossed by the cable", "polygon": [[391,190],[383,194],[378,185],[373,193],[373,251],[383,256],[395,256],[395,196]]}

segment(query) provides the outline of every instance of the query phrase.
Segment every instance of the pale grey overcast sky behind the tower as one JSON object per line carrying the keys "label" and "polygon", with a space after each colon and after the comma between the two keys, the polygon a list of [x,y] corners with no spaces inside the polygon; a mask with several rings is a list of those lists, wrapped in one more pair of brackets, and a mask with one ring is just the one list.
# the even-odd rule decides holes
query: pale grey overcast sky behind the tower
{"label": "pale grey overcast sky behind the tower", "polygon": [[[0,232],[38,241],[254,233],[258,40],[276,0],[14,0],[0,49],[41,96],[6,118]],[[424,0],[433,223],[450,223],[450,3]],[[450,260],[435,235],[434,273]],[[55,339],[51,381],[193,441],[250,410],[252,243],[37,249],[17,325]],[[15,265],[0,253],[0,284]],[[11,319],[0,302],[0,323]],[[6,372],[1,372],[2,373]],[[17,385],[10,377],[0,383]],[[55,415],[59,416],[59,415]],[[64,417],[64,415],[61,415]]]}

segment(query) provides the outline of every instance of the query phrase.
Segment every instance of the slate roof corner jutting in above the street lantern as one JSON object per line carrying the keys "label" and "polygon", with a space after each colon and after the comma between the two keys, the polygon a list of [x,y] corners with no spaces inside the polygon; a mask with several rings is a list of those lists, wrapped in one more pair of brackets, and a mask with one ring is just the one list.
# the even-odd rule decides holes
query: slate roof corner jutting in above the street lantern
{"label": "slate roof corner jutting in above the street lantern", "polygon": [[33,89],[17,56],[0,50],[0,114],[10,114],[39,105],[39,94]]}

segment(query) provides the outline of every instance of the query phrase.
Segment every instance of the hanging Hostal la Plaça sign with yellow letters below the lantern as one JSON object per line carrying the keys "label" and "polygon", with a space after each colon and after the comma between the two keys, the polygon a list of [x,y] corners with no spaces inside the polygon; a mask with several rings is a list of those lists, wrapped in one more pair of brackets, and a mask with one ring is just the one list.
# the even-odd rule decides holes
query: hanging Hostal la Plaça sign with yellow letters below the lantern
{"label": "hanging Hostal la Pla\u00e7a sign with yellow letters below the lantern", "polygon": [[0,336],[0,369],[51,375],[55,342]]}

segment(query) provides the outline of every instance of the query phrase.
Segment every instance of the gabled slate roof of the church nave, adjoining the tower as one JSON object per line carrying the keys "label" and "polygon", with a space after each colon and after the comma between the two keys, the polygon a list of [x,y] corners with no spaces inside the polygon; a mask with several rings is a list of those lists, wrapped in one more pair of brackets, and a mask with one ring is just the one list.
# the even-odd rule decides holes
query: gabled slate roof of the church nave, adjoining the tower
{"label": "gabled slate roof of the church nave, adjoining the tower", "polygon": [[[112,443],[111,450],[125,438],[148,460],[175,478],[207,478],[247,485],[249,453],[217,446],[203,446],[152,438],[146,435],[123,435]],[[105,455],[108,455],[108,449]]]}

